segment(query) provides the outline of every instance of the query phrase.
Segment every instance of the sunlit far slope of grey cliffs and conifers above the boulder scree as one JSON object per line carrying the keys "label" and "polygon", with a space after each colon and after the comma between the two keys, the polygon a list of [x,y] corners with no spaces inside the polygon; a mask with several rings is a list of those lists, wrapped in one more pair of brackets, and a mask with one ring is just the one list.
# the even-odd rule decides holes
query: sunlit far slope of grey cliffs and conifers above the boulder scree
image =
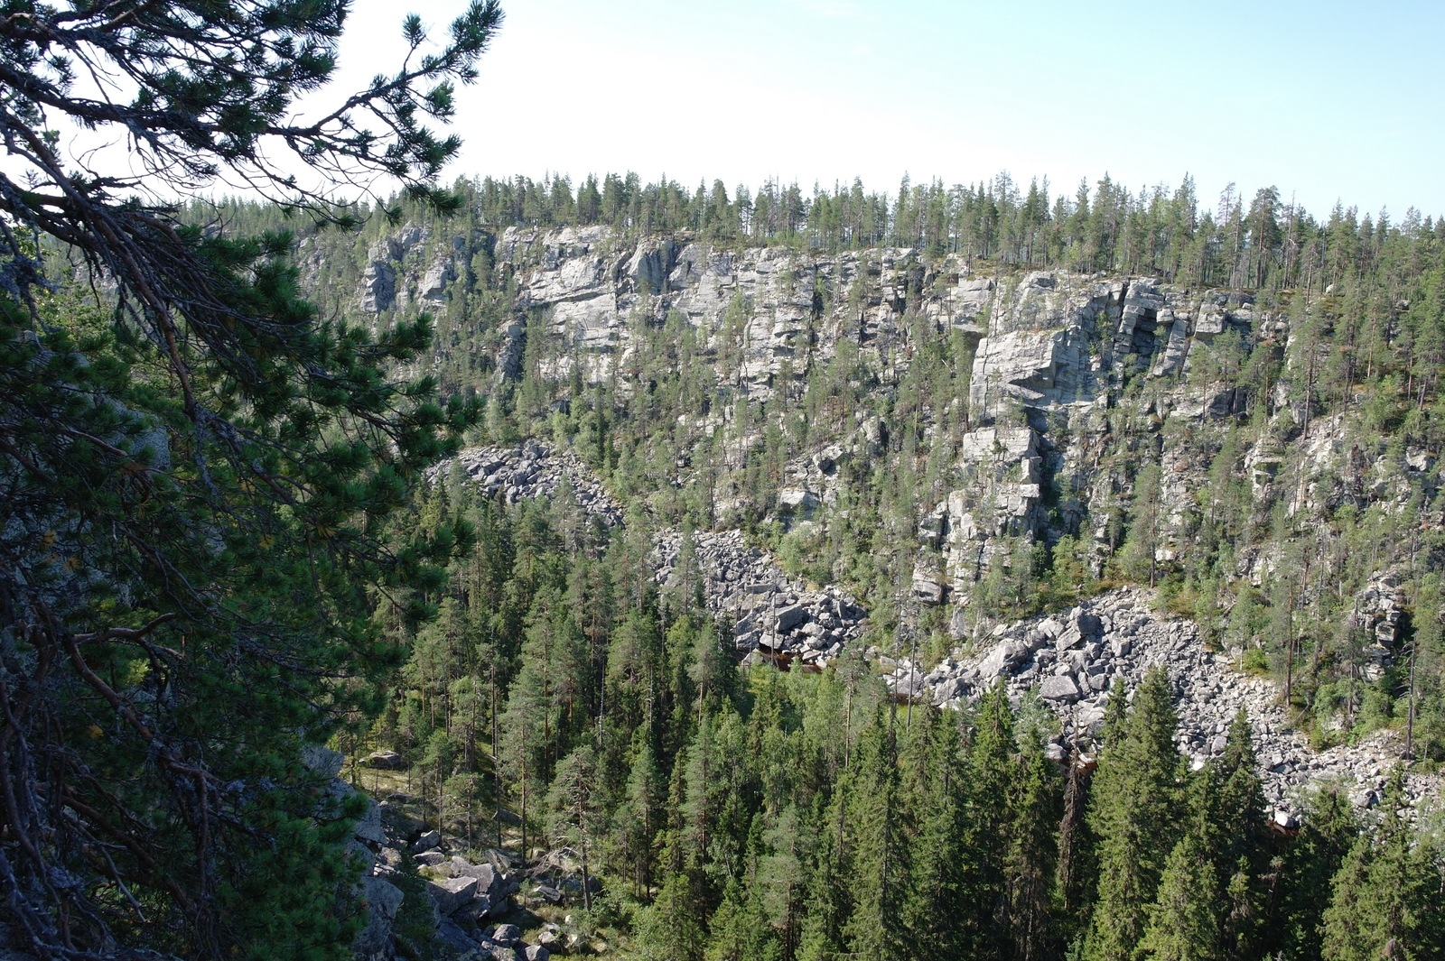
{"label": "sunlit far slope of grey cliffs and conifers above the boulder scree", "polygon": [[1413,616],[1439,606],[1433,222],[1272,190],[1214,218],[1188,180],[905,188],[487,180],[461,219],[301,257],[334,310],[431,310],[487,437],[555,439],[662,522],[743,527],[933,659],[1133,582],[1325,729],[1392,714],[1402,652],[1438,638]]}

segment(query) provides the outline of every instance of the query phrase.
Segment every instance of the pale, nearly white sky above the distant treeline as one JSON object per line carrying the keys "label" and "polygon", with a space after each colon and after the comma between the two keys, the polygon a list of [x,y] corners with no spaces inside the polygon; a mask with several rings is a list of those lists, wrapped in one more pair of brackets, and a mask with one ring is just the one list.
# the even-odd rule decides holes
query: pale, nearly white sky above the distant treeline
{"label": "pale, nearly white sky above the distant treeline", "polygon": [[[400,62],[416,10],[354,0],[334,94]],[[1108,173],[1276,186],[1399,219],[1445,214],[1445,3],[1209,0],[503,0],[458,91],[454,176],[666,175],[870,190],[1007,170],[1053,193]]]}

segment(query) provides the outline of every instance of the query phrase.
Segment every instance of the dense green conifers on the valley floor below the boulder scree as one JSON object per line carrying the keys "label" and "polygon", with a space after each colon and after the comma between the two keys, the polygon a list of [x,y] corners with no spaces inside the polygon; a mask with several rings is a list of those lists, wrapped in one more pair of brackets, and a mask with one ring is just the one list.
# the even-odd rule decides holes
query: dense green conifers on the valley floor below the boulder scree
{"label": "dense green conifers on the valley floor below the boulder scree", "polygon": [[[468,606],[484,571],[512,558],[486,589],[507,625],[494,641],[509,652],[500,795],[520,802],[526,788],[529,847],[585,847],[588,872],[634,902],[636,957],[1029,960],[1062,957],[1069,942],[1130,961],[1318,957],[1331,877],[1355,827],[1325,804],[1298,841],[1274,838],[1243,716],[1221,756],[1189,772],[1168,677],[1152,671],[1131,706],[1124,691],[1110,698],[1091,782],[1045,759],[1038,707],[1016,717],[1003,687],[962,713],[915,704],[909,723],[855,658],[822,675],[737,668],[708,618],[673,606],[692,592],[669,602],[650,584],[614,589],[634,563],[617,543],[626,531],[585,534],[577,550],[588,561],[571,569],[574,589],[578,569],[591,571],[610,609],[558,605],[569,574],[555,531],[575,530],[565,502],[460,498],[484,535],[432,603]],[[598,651],[553,645],[585,638],[590,622],[616,625],[598,633]],[[591,713],[568,719],[553,687],[548,698],[527,694],[559,677],[579,678]],[[418,758],[442,730],[441,691],[454,688],[415,691]],[[455,732],[460,708],[449,710]],[[487,755],[477,752],[478,772]],[[1071,827],[1068,784],[1084,818]],[[1065,835],[1066,889],[1056,880]]]}

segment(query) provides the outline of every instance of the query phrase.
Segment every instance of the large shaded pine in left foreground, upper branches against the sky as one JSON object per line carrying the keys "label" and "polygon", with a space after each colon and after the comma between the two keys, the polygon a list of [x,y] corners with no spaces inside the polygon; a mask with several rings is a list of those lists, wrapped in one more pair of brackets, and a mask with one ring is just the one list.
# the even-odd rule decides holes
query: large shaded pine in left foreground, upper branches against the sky
{"label": "large shaded pine in left foreground, upper branches against the sky", "polygon": [[[480,408],[396,374],[428,319],[327,319],[288,234],[202,231],[153,199],[244,180],[354,225],[332,193],[394,179],[455,209],[436,177],[460,140],[429,123],[475,78],[500,9],[470,4],[436,48],[406,19],[425,56],[299,120],[345,13],[17,0],[0,20],[0,635],[25,645],[0,671],[10,948],[347,954],[363,802],[331,791],[314,747],[396,667],[368,590],[410,632],[467,547],[465,525],[392,538],[389,518]],[[121,75],[120,95],[74,85]],[[49,131],[71,123],[133,144],[143,173],[113,150],[69,156]],[[46,278],[77,273],[84,294]]]}

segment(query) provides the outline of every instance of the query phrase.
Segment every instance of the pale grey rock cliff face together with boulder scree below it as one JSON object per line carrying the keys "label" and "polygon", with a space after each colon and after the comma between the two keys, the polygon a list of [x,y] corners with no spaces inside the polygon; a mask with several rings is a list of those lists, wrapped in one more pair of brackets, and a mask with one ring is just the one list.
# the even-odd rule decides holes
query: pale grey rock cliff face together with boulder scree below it
{"label": "pale grey rock cliff face together with boulder scree below it", "polygon": [[[409,237],[403,231],[394,242],[406,247]],[[461,274],[447,264],[468,242],[434,240],[442,254],[394,280],[377,267],[357,296],[383,313],[389,286],[434,303],[460,296]],[[1314,755],[1290,730],[1280,688],[1240,670],[1247,655],[1257,668],[1267,646],[1264,626],[1237,602],[1246,599],[1273,616],[1285,612],[1295,632],[1303,628],[1293,612],[1315,610],[1315,623],[1341,638],[1331,654],[1340,672],[1380,678],[1407,642],[1413,556],[1386,544],[1353,557],[1338,518],[1409,511],[1422,530],[1445,524],[1433,496],[1441,469],[1428,450],[1386,444],[1309,390],[1314,361],[1299,325],[1311,312],[1328,316],[1328,297],[1300,307],[1150,277],[1007,273],[957,255],[929,261],[907,248],[824,257],[604,227],[507,228],[488,242],[512,297],[503,336],[493,341],[494,377],[542,378],[559,398],[553,410],[604,388],[618,408],[646,403],[656,374],[644,355],[656,355],[659,338],[691,336],[689,362],[709,400],[678,414],[676,426],[657,424],[715,452],[695,459],[678,450],[669,466],[676,488],[702,470],[734,478],[717,483],[717,530],[699,532],[695,553],[704,594],[728,616],[741,649],[827,664],[863,636],[866,607],[887,605],[889,628],[909,619],[919,631],[941,626],[954,646],[942,661],[910,664],[883,635],[870,636],[874,655],[896,658],[887,661],[896,690],[958,703],[1004,677],[1016,695],[1038,687],[1061,717],[1064,740],[1078,743],[1095,733],[1108,695],[1165,662],[1188,756],[1208,758],[1243,707],[1260,730],[1270,797],[1282,808],[1319,778],[1360,785],[1361,804],[1379,788],[1397,745]],[[405,261],[390,251],[376,263]],[[527,343],[536,336],[542,342]],[[523,369],[523,352],[532,368]],[[910,401],[910,371],[939,356],[959,371],[962,390]],[[806,405],[827,378],[883,400]],[[793,443],[759,493],[738,478],[753,476],[767,431],[779,426]],[[509,499],[552,493],[565,475],[588,511],[620,522],[617,504],[569,456],[533,444],[473,452],[464,463]],[[902,473],[880,469],[899,462],[907,462]],[[809,525],[827,540],[855,524],[860,499],[877,498],[883,476],[913,479],[889,495],[913,511],[906,596],[805,584],[733,530],[750,518],[751,530],[772,525],[775,537]],[[1029,573],[1040,557],[1052,554],[1056,579],[1065,560],[1077,561],[1078,587],[1095,584],[1087,597],[1121,576],[1126,553],[1140,566],[1123,571],[1126,580],[1147,582],[1156,569],[1179,570],[1215,550],[1207,538],[1228,525],[1237,547],[1202,576],[1215,594],[1195,602],[1195,620],[1160,619],[1157,594],[1139,590],[1051,616],[1009,618],[997,603],[994,582],[1045,576]],[[682,554],[679,531],[663,530],[663,582],[676,576]],[[1358,570],[1325,576],[1345,567]],[[847,580],[835,571],[834,580]],[[1344,713],[1358,708],[1354,694],[1337,697]]]}

